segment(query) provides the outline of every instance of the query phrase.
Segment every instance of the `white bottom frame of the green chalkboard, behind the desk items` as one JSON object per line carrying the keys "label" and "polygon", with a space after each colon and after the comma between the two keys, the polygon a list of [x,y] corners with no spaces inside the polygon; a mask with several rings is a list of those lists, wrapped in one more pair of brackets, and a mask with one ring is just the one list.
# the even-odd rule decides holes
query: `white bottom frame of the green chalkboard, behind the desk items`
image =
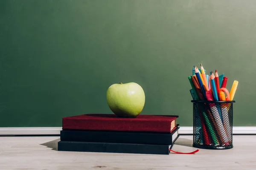
{"label": "white bottom frame of the green chalkboard, behind the desk items", "polygon": [[[62,127],[0,127],[0,135],[60,135]],[[179,133],[192,135],[193,127],[181,126]],[[233,134],[256,134],[256,127],[233,127]]]}

